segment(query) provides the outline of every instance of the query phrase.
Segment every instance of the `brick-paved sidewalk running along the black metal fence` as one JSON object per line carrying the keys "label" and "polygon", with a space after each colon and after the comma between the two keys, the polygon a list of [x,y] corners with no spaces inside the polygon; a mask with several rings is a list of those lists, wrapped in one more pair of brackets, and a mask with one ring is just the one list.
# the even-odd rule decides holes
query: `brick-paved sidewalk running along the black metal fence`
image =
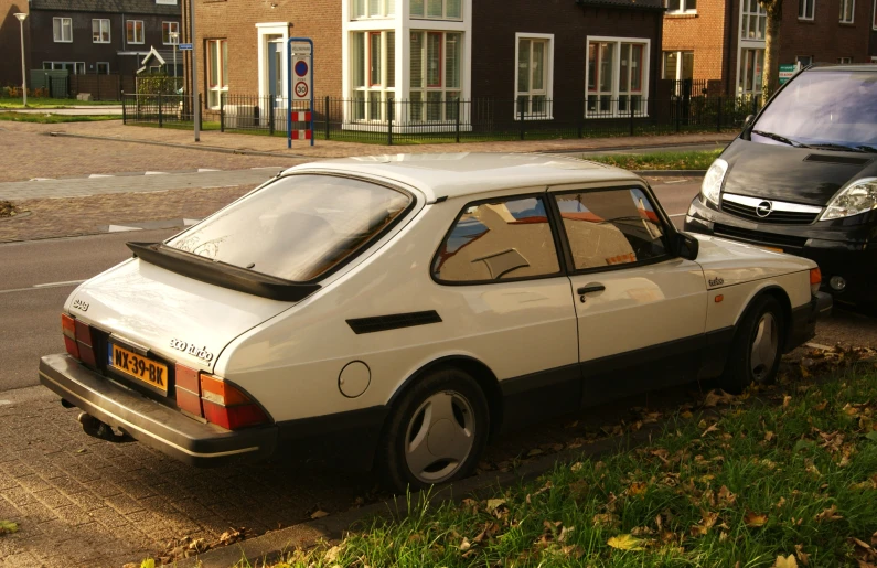
{"label": "brick-paved sidewalk running along the black metal fence", "polygon": [[213,149],[226,152],[268,152],[279,157],[343,158],[349,156],[374,156],[385,153],[436,153],[436,152],[574,152],[612,148],[638,148],[650,146],[680,146],[716,142],[725,146],[736,132],[712,132],[696,135],[639,136],[612,138],[584,138],[565,140],[523,140],[502,142],[463,142],[438,144],[382,146],[354,142],[317,140],[307,142],[287,141],[281,137],[238,135],[229,132],[201,132],[201,142],[193,140],[193,132],[172,128],[126,126],[121,122],[71,122],[66,125],[26,125],[29,129],[43,132],[63,132],[81,137],[96,137],[128,142],[174,144],[188,148]]}

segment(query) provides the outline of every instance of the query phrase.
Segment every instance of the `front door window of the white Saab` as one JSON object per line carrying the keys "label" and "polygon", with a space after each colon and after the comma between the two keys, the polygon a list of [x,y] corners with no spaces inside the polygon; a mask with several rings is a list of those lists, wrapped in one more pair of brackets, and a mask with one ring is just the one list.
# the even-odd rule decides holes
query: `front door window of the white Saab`
{"label": "front door window of the white Saab", "polygon": [[643,262],[667,254],[654,206],[639,189],[556,195],[576,270]]}

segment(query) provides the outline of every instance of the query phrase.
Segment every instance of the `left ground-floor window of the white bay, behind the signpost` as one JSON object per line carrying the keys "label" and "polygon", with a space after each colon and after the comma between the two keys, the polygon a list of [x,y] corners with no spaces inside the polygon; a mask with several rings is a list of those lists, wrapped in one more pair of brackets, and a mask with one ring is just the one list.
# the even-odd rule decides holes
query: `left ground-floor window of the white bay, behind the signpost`
{"label": "left ground-floor window of the white bay, behind the signpost", "polygon": [[351,34],[351,86],[354,120],[386,120],[386,101],[396,98],[396,32]]}

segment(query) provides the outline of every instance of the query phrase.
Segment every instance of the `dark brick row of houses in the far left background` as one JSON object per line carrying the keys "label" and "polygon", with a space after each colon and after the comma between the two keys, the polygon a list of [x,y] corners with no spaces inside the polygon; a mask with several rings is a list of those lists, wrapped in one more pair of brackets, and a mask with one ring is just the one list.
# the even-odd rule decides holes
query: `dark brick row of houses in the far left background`
{"label": "dark brick row of houses in the far left background", "polygon": [[178,0],[0,0],[0,10],[2,84],[21,84],[17,11],[28,13],[29,69],[133,75],[152,47],[167,53],[179,42]]}

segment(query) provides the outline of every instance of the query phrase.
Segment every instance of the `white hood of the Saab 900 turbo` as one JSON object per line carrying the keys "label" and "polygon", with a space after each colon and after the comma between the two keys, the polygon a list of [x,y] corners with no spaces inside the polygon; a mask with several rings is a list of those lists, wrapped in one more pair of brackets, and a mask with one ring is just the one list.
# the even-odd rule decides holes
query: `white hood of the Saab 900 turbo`
{"label": "white hood of the Saab 900 turbo", "polygon": [[706,235],[700,242],[697,264],[704,269],[707,288],[734,286],[815,268],[816,264],[767,248]]}

